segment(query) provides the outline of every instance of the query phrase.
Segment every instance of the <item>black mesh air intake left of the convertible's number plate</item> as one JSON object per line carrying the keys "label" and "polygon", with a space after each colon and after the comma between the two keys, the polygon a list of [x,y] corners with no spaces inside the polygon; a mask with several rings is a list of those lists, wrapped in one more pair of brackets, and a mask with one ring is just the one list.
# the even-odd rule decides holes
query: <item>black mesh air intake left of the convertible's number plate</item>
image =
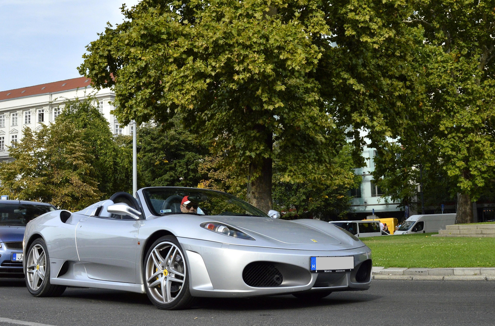
{"label": "black mesh air intake left of the convertible's number plate", "polygon": [[253,287],[271,287],[282,284],[282,273],[270,262],[247,264],[243,271],[244,282]]}

